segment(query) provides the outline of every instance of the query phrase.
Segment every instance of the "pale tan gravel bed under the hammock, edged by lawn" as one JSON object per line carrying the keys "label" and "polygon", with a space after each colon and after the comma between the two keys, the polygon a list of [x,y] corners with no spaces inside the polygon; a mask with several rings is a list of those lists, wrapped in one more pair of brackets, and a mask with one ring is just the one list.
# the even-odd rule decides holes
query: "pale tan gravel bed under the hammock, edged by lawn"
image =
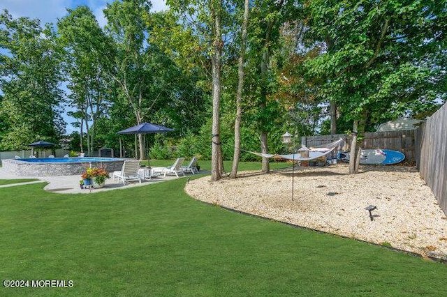
{"label": "pale tan gravel bed under the hammock, edged by lawn", "polygon": [[[344,164],[242,172],[186,184],[195,199],[281,222],[447,260],[447,218],[415,167]],[[373,205],[374,220],[365,207]]]}

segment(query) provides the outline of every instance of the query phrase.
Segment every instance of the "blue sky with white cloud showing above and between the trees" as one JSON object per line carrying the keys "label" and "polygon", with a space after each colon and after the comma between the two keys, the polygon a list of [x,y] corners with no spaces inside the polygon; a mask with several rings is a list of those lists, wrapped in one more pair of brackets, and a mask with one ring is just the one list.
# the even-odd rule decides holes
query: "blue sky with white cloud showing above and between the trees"
{"label": "blue sky with white cloud showing above and between the trees", "polygon": [[[105,17],[103,9],[106,3],[112,3],[113,0],[0,0],[0,10],[8,10],[13,18],[29,17],[31,19],[41,20],[41,25],[45,23],[56,24],[58,19],[61,19],[67,14],[66,8],[75,8],[77,6],[89,6],[91,11],[96,15],[100,26],[105,25]],[[152,11],[166,10],[165,0],[152,0]],[[69,110],[67,109],[66,112]],[[71,119],[64,114],[64,119],[67,122],[67,133],[70,134],[74,130],[70,125],[75,119]]]}

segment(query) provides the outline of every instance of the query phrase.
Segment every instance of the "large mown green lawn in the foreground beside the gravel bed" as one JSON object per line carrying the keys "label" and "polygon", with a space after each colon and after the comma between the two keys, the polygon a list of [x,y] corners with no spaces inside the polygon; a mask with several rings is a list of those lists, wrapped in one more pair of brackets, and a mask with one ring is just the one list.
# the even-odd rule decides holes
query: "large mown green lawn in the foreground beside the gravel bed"
{"label": "large mown green lawn in the foreground beside the gravel bed", "polygon": [[0,188],[0,278],[74,284],[0,296],[447,295],[445,264],[203,204],[184,183]]}

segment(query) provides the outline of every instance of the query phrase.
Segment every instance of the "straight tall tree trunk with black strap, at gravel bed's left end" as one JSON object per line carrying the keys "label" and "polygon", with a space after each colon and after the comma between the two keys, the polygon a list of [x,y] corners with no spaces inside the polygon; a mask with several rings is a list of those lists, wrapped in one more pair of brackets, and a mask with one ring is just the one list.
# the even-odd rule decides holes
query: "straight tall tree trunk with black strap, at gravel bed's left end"
{"label": "straight tall tree trunk with black strap, at gravel bed's left end", "polygon": [[212,64],[212,148],[211,148],[211,181],[219,181],[222,177],[223,162],[221,160],[221,138],[220,131],[220,104],[221,104],[221,2],[210,1],[210,11],[213,24],[213,53]]}

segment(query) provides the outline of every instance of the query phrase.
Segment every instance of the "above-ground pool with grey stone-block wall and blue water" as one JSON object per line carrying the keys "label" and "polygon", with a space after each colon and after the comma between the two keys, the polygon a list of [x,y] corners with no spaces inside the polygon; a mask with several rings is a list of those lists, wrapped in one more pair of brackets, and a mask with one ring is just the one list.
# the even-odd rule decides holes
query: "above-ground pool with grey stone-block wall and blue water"
{"label": "above-ground pool with grey stone-block wall and blue water", "polygon": [[120,158],[20,158],[3,159],[4,169],[17,176],[80,175],[88,167],[104,167],[108,172],[121,170]]}

